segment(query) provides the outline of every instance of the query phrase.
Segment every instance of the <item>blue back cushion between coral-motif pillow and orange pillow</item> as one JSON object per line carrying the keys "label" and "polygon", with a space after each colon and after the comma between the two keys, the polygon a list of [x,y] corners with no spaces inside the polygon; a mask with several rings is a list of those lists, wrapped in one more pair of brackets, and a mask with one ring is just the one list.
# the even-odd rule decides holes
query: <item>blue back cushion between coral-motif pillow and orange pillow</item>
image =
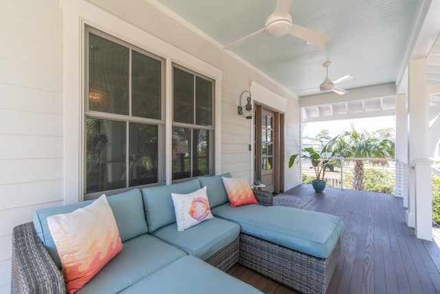
{"label": "blue back cushion between coral-motif pillow and orange pillow", "polygon": [[221,177],[230,178],[231,174],[226,173],[219,176],[199,177],[200,186],[206,186],[206,194],[208,194],[210,208],[217,207],[221,204],[229,202],[228,193]]}

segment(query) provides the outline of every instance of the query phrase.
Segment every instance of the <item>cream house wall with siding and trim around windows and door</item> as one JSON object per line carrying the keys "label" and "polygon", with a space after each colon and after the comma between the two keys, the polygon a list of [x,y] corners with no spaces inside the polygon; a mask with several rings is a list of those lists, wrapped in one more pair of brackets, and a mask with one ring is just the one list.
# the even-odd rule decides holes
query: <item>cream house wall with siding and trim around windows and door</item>
{"label": "cream house wall with siding and trim around windows and door", "polygon": [[[216,174],[253,177],[252,120],[236,113],[241,92],[285,114],[285,189],[300,184],[299,166],[287,168],[300,149],[298,97],[146,1],[16,0],[3,1],[0,12],[0,293],[10,291],[12,228],[32,221],[35,209],[83,199],[85,25],[164,59],[166,93],[173,63],[212,78]],[[168,184],[172,102],[164,99]]]}

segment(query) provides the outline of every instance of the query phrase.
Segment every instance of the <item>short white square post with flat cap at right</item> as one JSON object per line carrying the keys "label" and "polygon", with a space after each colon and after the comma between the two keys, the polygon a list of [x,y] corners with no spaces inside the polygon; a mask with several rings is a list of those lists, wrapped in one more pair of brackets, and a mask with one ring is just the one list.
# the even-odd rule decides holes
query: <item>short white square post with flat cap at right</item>
{"label": "short white square post with flat cap at right", "polygon": [[[415,159],[415,235],[432,241],[432,160]],[[429,180],[426,180],[429,179]]]}

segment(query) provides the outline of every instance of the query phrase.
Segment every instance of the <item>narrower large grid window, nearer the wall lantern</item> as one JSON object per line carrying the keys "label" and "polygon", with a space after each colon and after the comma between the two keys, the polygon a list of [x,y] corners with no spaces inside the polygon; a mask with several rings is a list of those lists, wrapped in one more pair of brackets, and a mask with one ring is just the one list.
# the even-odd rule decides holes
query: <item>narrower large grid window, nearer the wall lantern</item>
{"label": "narrower large grid window, nearer the wall lantern", "polygon": [[214,82],[173,66],[173,180],[212,175]]}

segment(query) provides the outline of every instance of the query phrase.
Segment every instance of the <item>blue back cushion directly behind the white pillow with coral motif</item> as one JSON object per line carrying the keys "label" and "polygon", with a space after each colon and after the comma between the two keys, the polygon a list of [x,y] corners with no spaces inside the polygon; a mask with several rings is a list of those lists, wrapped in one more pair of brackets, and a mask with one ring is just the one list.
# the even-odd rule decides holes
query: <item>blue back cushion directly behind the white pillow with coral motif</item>
{"label": "blue back cushion directly behind the white pillow with coral motif", "polygon": [[200,188],[200,182],[196,178],[179,184],[143,188],[142,197],[148,233],[176,222],[171,193],[188,194]]}

